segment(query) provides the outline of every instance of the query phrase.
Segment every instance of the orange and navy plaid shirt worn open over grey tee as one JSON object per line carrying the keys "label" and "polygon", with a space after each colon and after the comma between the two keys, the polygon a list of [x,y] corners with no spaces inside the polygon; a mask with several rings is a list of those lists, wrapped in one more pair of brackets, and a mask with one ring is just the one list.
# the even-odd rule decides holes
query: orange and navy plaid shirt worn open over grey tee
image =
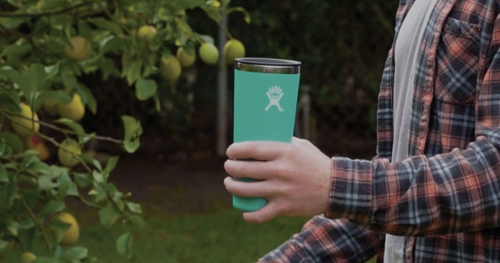
{"label": "orange and navy plaid shirt worn open over grey tee", "polygon": [[[395,37],[413,2],[400,0]],[[499,12],[493,0],[437,1],[418,52],[412,157],[395,163],[392,47],[377,156],[332,158],[324,216],[260,262],[363,262],[377,252],[380,261],[383,233],[406,236],[406,262],[500,262]]]}

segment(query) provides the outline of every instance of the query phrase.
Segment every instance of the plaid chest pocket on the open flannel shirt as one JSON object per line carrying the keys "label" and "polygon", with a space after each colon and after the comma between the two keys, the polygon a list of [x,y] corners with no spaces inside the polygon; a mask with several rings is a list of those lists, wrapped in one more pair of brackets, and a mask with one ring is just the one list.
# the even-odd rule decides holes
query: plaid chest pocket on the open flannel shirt
{"label": "plaid chest pocket on the open flannel shirt", "polygon": [[453,104],[472,104],[479,67],[480,26],[447,18],[436,50],[434,95]]}

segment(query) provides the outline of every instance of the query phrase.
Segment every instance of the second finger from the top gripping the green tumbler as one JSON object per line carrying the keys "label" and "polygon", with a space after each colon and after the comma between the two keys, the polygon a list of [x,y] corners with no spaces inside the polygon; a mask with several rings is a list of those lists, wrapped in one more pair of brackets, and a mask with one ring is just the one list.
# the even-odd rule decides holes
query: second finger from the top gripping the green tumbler
{"label": "second finger from the top gripping the green tumbler", "polygon": [[268,162],[238,160],[226,160],[224,169],[232,177],[246,177],[256,180],[268,179],[274,170],[272,164]]}

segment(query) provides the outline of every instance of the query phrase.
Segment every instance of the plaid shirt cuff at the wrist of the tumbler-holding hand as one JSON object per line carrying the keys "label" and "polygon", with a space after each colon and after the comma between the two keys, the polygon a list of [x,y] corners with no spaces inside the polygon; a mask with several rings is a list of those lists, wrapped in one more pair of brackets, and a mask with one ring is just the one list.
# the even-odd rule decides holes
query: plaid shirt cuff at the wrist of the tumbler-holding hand
{"label": "plaid shirt cuff at the wrist of the tumbler-holding hand", "polygon": [[325,217],[367,225],[372,207],[373,162],[331,158],[331,187]]}

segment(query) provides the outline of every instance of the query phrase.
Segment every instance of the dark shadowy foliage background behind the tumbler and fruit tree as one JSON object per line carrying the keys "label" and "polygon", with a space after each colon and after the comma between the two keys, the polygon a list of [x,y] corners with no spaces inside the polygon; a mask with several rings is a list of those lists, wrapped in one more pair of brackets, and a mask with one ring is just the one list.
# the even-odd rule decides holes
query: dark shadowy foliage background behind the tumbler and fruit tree
{"label": "dark shadowy foliage background behind the tumbler and fruit tree", "polygon": [[[245,44],[248,57],[303,63],[301,85],[309,86],[311,95],[311,140],[329,155],[372,156],[376,97],[392,43],[397,1],[233,0],[231,5],[245,8],[251,16],[248,25],[240,14],[231,14],[228,26],[231,34]],[[187,13],[197,32],[216,36],[216,25],[206,23],[203,12]],[[182,158],[212,154],[216,68],[199,60],[197,64],[183,72],[184,78],[175,88],[165,84],[162,92],[167,99],[161,113],[155,112],[151,102],[134,100],[133,89],[123,88],[124,83],[96,83],[93,87],[99,90],[95,94],[100,115],[86,116],[87,125],[99,123],[95,127],[98,133],[112,135],[119,133],[116,124],[108,121],[103,125],[106,122],[101,119],[136,113],[143,125],[149,126],[144,129],[142,151],[165,156],[180,154]],[[231,73],[229,68],[229,87]],[[99,79],[88,77],[88,82]],[[130,107],[130,103],[120,101],[133,104]],[[231,129],[229,126],[229,134]]]}

